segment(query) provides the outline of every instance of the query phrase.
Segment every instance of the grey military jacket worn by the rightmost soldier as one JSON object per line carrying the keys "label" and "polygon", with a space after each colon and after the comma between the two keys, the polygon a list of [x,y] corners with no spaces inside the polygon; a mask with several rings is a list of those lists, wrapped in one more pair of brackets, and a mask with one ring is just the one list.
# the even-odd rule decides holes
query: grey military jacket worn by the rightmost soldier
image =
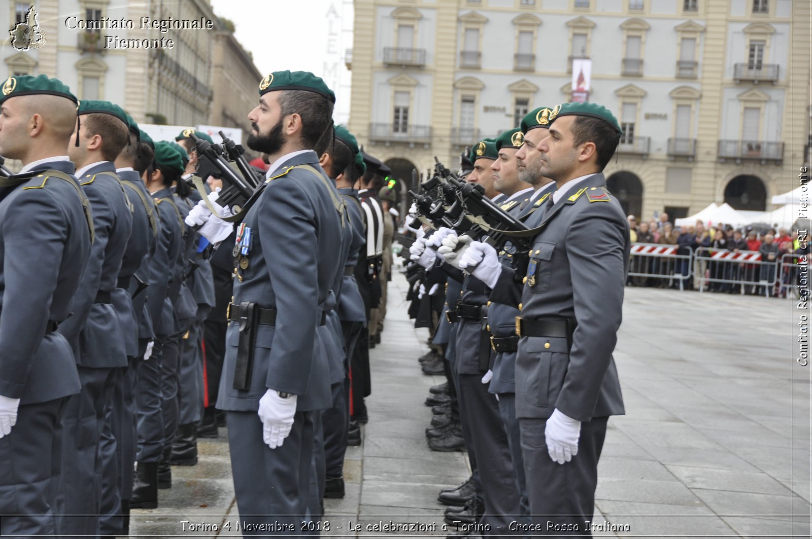
{"label": "grey military jacket worn by the rightmost soldier", "polygon": [[[628,222],[603,174],[577,183],[548,206],[535,237],[521,295],[523,319],[574,319],[566,338],[523,336],[516,358],[516,416],[546,419],[555,408],[573,419],[622,415],[611,353],[623,307]],[[549,203],[551,203],[552,198]],[[495,287],[512,294],[516,272]],[[532,286],[531,286],[532,282]]]}

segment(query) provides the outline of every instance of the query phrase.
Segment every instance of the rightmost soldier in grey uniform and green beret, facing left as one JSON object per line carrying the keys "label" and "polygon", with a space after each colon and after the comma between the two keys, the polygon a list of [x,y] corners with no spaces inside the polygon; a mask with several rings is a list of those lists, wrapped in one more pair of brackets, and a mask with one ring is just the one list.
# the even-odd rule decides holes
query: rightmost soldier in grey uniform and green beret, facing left
{"label": "rightmost soldier in grey uniform and green beret, facing left", "polygon": [[602,173],[620,127],[594,103],[556,106],[544,119],[550,131],[538,144],[541,172],[557,191],[536,227],[521,297],[516,272],[499,264],[490,246],[471,244],[460,265],[501,293],[500,301],[512,295],[520,304],[516,416],[532,522],[555,536],[582,537],[590,535],[608,416],[624,413],[611,352],[628,222]]}

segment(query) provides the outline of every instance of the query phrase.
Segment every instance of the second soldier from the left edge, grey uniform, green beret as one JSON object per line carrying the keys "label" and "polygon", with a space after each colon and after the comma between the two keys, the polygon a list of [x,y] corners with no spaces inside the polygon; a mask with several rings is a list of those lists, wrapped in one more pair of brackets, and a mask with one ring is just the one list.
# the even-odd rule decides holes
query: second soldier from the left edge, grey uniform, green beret
{"label": "second soldier from the left edge, grey uniform, green beret", "polygon": [[[87,535],[99,532],[103,472],[114,463],[115,441],[103,435],[113,388],[127,366],[127,350],[112,304],[124,250],[132,232],[132,210],[113,160],[127,144],[127,117],[107,101],[81,101],[80,127],[68,146],[76,166],[76,179],[93,209],[95,239],[79,290],[73,299],[73,315],[59,326],[71,343],[79,376],[80,395],[71,397],[63,417],[63,475],[58,487],[59,533]],[[86,493],[84,489],[87,489]],[[86,516],[67,516],[86,515]]]}

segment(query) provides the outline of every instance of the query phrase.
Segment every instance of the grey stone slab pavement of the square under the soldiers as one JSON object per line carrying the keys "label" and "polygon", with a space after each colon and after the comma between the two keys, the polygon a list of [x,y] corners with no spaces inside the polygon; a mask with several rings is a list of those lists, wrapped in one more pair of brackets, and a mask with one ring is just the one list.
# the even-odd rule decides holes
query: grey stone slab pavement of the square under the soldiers
{"label": "grey stone slab pavement of the square under the soldiers", "polygon": [[[322,535],[391,537],[367,527],[392,521],[443,537],[438,490],[469,476],[464,453],[425,444],[423,401],[443,379],[420,373],[428,334],[406,317],[405,286],[395,272],[369,424]],[[790,300],[626,289],[615,361],[627,415],[609,421],[596,536],[810,537],[810,373],[793,371],[792,313]],[[160,508],[133,511],[132,537],[240,535],[225,429],[199,447]]]}

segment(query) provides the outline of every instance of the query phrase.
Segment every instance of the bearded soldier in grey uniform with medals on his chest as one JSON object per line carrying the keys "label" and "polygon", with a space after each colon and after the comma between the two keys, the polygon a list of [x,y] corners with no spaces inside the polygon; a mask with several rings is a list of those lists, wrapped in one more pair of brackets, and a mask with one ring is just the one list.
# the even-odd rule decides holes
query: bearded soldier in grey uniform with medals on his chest
{"label": "bearded soldier in grey uniform with medals on his chest", "polygon": [[[273,164],[235,245],[220,247],[234,248],[238,280],[217,406],[227,411],[240,520],[251,525],[244,535],[265,535],[266,528],[301,536],[317,529],[301,525],[315,416],[332,406],[317,327],[326,323],[330,287],[343,271],[336,265],[343,202],[312,150],[332,126],[335,95],[302,71],[267,75],[259,94],[248,114],[248,146]],[[201,225],[212,243],[231,233],[203,201],[187,223]]]}

